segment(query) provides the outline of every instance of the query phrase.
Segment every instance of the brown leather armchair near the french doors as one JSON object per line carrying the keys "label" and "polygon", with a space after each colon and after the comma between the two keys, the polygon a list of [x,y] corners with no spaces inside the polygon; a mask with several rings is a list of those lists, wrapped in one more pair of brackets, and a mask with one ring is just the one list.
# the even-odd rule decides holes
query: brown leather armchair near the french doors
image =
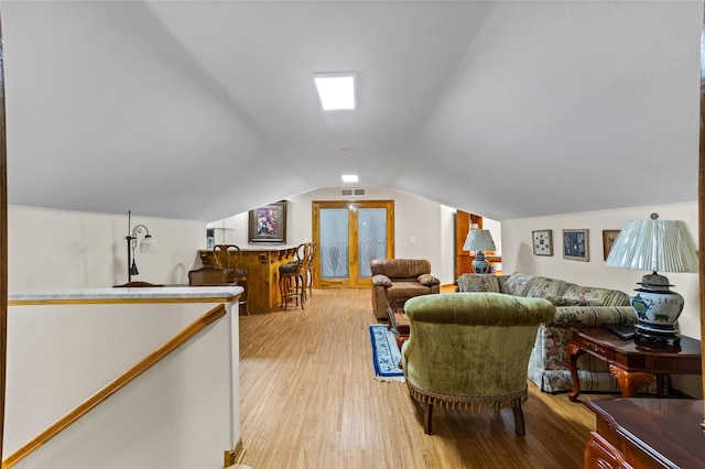
{"label": "brown leather armchair near the french doors", "polygon": [[372,272],[372,312],[387,319],[390,299],[406,299],[441,292],[441,281],[431,275],[431,262],[425,259],[376,259]]}

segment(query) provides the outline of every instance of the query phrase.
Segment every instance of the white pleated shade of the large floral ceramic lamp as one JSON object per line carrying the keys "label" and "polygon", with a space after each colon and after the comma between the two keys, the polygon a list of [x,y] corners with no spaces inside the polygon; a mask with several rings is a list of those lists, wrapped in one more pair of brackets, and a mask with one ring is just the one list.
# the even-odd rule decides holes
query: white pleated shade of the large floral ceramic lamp
{"label": "white pleated shade of the large floral ceramic lamp", "polygon": [[695,242],[681,220],[631,220],[606,261],[611,268],[652,272],[697,272]]}

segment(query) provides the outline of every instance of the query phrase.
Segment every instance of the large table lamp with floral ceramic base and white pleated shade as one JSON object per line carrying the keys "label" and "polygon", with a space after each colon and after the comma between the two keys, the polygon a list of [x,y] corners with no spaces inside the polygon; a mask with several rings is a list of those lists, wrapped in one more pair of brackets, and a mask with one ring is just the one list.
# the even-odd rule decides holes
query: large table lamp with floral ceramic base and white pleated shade
{"label": "large table lamp with floral ceramic base and white pleated shade", "polygon": [[683,312],[683,296],[672,292],[661,272],[697,272],[695,242],[684,221],[631,220],[621,229],[607,257],[611,268],[651,271],[638,283],[631,307],[639,321],[636,334],[655,341],[680,342],[674,324]]}

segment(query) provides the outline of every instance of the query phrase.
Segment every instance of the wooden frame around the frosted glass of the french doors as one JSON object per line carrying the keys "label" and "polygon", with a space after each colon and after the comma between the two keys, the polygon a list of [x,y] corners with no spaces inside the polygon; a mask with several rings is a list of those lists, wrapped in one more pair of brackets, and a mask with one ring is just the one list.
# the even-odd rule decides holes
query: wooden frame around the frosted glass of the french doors
{"label": "wooden frame around the frosted glass of the french doors", "polygon": [[[321,251],[321,209],[340,209],[345,208],[348,210],[348,214],[357,214],[357,210],[361,208],[384,208],[387,209],[387,257],[394,257],[394,200],[313,200],[311,203],[311,220],[312,220],[312,237],[313,242],[318,246],[318,251]],[[354,216],[354,220],[357,221],[357,215]],[[321,252],[316,257],[316,272],[314,286],[316,288],[366,288],[370,287],[372,284],[371,279],[362,279],[359,280],[359,257],[358,257],[358,229],[357,222],[348,223],[348,239],[355,240],[355,246],[348,250],[348,264],[350,266],[348,272],[348,280],[325,280],[322,281],[321,273],[322,269],[322,258]],[[352,282],[352,286],[350,285]]]}

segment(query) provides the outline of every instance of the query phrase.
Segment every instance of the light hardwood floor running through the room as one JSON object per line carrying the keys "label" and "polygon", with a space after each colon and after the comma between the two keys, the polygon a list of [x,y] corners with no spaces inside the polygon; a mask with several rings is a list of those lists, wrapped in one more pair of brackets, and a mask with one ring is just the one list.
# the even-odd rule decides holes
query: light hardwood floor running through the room
{"label": "light hardwood floor running through the room", "polygon": [[[529,383],[511,411],[434,410],[424,435],[402,382],[375,380],[367,290],[317,290],[305,309],[240,317],[243,465],[269,468],[582,468],[595,416]],[[584,394],[582,399],[618,395]]]}

